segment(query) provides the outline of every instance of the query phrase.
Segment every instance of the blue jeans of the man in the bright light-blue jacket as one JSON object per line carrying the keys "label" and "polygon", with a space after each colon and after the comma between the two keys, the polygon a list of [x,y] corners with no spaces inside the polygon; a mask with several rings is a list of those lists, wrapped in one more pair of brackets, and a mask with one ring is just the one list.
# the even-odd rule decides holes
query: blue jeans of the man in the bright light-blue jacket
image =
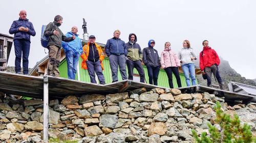
{"label": "blue jeans of the man in the bright light-blue jacket", "polygon": [[68,77],[69,79],[75,79],[79,55],[69,50],[66,52],[66,59],[68,64]]}

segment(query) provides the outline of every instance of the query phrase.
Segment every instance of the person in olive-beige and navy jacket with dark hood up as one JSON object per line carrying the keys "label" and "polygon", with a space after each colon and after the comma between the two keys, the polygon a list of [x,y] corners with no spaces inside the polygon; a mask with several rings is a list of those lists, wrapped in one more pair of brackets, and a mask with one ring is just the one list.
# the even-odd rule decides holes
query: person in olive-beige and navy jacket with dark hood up
{"label": "person in olive-beige and navy jacket with dark hood up", "polygon": [[136,68],[140,75],[140,82],[145,82],[145,73],[141,66],[143,54],[141,52],[140,45],[137,42],[137,36],[135,34],[129,35],[129,42],[125,43],[128,54],[126,61],[128,67],[128,79],[133,80],[133,69]]}

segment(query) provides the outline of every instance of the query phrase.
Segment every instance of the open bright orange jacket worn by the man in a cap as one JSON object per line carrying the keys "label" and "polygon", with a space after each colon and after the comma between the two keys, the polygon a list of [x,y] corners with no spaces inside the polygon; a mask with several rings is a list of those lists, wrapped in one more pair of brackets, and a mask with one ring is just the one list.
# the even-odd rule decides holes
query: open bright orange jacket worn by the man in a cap
{"label": "open bright orange jacket worn by the man in a cap", "polygon": [[[104,70],[103,63],[102,63],[102,61],[105,58],[104,53],[103,53],[103,51],[102,51],[102,49],[99,45],[97,45],[96,43],[95,43],[95,45],[96,45],[96,47],[98,49],[98,52],[99,52],[99,61],[100,61],[101,68],[102,68],[102,70]],[[81,66],[82,66],[83,69],[87,69],[86,61],[87,61],[88,55],[89,55],[89,49],[90,49],[89,46],[90,46],[90,42],[88,42],[87,45],[84,45],[82,47],[83,52],[81,54],[81,58],[82,58],[82,65]]]}

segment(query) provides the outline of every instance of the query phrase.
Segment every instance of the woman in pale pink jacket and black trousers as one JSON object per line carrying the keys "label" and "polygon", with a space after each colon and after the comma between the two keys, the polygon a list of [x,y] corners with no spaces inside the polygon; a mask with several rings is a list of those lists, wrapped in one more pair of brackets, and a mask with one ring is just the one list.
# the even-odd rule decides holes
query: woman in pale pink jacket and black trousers
{"label": "woman in pale pink jacket and black trousers", "polygon": [[165,42],[164,44],[164,50],[161,53],[161,66],[168,76],[170,88],[174,88],[173,73],[176,77],[178,87],[180,88],[181,81],[178,70],[178,67],[180,67],[180,60],[178,59],[176,53],[170,49],[170,42]]}

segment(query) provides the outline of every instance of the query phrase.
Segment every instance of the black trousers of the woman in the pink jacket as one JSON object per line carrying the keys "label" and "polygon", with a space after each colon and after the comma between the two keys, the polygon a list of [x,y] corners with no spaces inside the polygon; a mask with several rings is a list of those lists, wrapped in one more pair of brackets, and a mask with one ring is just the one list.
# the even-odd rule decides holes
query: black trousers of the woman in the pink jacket
{"label": "black trousers of the woman in the pink jacket", "polygon": [[168,76],[169,87],[171,89],[174,88],[174,84],[173,84],[173,73],[174,73],[174,75],[176,77],[176,80],[177,80],[178,87],[180,88],[181,87],[181,81],[180,81],[180,74],[179,74],[178,67],[167,67],[164,70],[165,70],[165,72]]}

